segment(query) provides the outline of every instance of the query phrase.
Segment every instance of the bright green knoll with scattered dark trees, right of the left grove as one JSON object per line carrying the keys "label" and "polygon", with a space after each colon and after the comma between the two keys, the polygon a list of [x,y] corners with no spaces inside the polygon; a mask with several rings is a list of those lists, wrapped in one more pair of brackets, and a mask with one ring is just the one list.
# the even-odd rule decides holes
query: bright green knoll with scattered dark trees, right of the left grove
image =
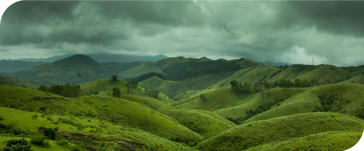
{"label": "bright green knoll with scattered dark trees, right of the left grove", "polygon": [[[139,84],[140,85],[140,84]],[[128,87],[127,82],[123,80],[113,81],[111,78],[108,79],[100,79],[96,81],[92,81],[89,83],[80,84],[81,90],[83,93],[88,93],[90,91],[98,91],[100,95],[111,95],[112,88],[118,87],[123,92],[123,94],[131,94],[147,97],[145,94],[145,89],[141,87],[133,88]],[[170,104],[174,102],[169,97],[160,93],[158,96],[158,100],[165,102],[166,104]]]}

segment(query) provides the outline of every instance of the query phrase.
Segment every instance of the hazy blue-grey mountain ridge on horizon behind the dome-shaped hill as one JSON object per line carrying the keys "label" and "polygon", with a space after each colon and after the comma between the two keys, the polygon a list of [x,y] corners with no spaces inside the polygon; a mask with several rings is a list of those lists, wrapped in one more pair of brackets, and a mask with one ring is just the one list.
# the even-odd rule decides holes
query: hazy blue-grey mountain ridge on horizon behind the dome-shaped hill
{"label": "hazy blue-grey mountain ridge on horizon behind the dome-shaped hill", "polygon": [[[65,54],[65,55],[56,55],[49,58],[21,58],[21,59],[15,59],[15,60],[21,60],[21,61],[31,61],[31,62],[55,62],[60,59],[64,59],[67,57],[70,57],[75,54]],[[142,55],[119,55],[119,54],[86,54],[87,56],[90,56],[91,58],[95,59],[97,62],[134,62],[134,61],[151,61],[151,62],[157,62],[158,60],[166,59],[167,56],[163,54],[159,54],[156,56],[142,56]],[[11,60],[11,59],[8,59]]]}

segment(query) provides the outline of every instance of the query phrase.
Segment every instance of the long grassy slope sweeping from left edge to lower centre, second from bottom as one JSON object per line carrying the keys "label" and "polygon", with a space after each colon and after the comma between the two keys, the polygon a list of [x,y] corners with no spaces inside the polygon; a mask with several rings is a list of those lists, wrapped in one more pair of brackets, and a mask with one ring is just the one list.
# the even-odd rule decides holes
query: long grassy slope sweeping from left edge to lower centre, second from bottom
{"label": "long grassy slope sweeping from left edge to lower centre, second from bottom", "polygon": [[[4,92],[1,94],[0,106],[2,107],[8,106],[28,111],[37,111],[40,107],[45,107],[47,113],[98,117],[117,125],[145,130],[169,140],[174,140],[176,137],[181,142],[202,139],[199,134],[180,125],[173,118],[137,102],[101,95],[62,100],[60,96],[7,85],[0,85],[0,92]],[[58,99],[29,100],[34,96]]]}

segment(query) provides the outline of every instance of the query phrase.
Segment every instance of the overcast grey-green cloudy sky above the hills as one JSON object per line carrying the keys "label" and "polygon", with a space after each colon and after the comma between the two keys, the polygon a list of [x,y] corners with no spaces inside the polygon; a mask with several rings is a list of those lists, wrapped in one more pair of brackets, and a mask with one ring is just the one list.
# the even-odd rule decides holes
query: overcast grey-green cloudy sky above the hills
{"label": "overcast grey-green cloudy sky above the hills", "polygon": [[22,0],[0,59],[67,53],[364,64],[363,0]]}

